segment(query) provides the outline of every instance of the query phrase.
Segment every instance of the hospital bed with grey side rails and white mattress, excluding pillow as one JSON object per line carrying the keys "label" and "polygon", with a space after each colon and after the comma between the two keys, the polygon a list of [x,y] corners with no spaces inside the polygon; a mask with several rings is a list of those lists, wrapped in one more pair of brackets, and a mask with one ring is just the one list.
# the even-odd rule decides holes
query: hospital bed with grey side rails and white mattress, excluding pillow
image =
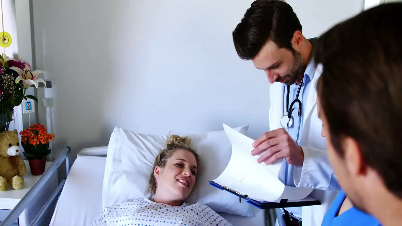
{"label": "hospital bed with grey side rails and white mattress, excluding pillow", "polygon": [[[62,180],[31,225],[49,226],[89,225],[102,211],[102,184],[107,147],[81,150],[70,169],[70,147],[64,148],[34,187],[21,199],[0,226],[11,226],[27,207],[47,179],[66,162],[67,178]],[[219,213],[234,226],[266,226],[265,210],[256,209],[254,216]],[[269,224],[268,224],[269,225]]]}

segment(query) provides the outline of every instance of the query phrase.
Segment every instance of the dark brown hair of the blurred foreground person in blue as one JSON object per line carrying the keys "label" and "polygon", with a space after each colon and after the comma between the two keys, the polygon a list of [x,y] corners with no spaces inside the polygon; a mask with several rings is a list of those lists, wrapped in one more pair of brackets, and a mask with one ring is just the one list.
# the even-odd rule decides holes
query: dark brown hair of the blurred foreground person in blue
{"label": "dark brown hair of the blurred foreground person in blue", "polygon": [[314,50],[322,64],[318,97],[330,140],[358,142],[365,163],[402,198],[402,3],[371,8],[324,33]]}

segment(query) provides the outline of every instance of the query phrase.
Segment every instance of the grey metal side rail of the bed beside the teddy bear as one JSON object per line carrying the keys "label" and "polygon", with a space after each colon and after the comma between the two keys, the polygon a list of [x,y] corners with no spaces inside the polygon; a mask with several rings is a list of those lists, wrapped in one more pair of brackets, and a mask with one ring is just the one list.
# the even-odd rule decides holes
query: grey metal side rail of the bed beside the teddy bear
{"label": "grey metal side rail of the bed beside the teddy bear", "polygon": [[[18,219],[20,214],[27,208],[29,203],[35,197],[35,195],[39,192],[39,190],[45,185],[45,183],[49,180],[49,178],[53,175],[55,171],[59,168],[59,166],[66,160],[66,177],[70,172],[71,168],[71,158],[70,158],[71,148],[66,146],[63,151],[57,156],[57,158],[53,161],[51,166],[43,173],[43,175],[39,178],[39,180],[33,185],[33,187],[24,195],[24,197],[17,203],[14,209],[8,214],[6,219],[0,224],[0,226],[12,226],[14,222]],[[59,185],[57,186],[56,190],[53,194],[49,197],[46,201],[45,205],[43,205],[42,209],[36,215],[36,217],[31,222],[30,226],[36,225],[45,225],[43,224],[43,220],[49,211],[52,210],[51,207],[57,202],[58,197],[62,193],[64,184],[66,183],[66,178],[63,179]],[[53,210],[52,210],[53,212]]]}

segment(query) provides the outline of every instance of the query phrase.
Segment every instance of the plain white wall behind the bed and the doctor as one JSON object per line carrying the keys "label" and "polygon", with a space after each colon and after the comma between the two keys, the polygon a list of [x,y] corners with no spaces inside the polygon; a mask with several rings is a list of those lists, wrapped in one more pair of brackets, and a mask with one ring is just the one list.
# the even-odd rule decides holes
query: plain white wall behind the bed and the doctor
{"label": "plain white wall behind the bed and the doctor", "polygon": [[[54,99],[53,148],[71,146],[74,156],[107,145],[114,126],[167,134],[249,123],[257,138],[268,128],[269,82],[237,57],[231,39],[251,2],[33,1],[36,68],[53,85],[45,89]],[[288,2],[306,37],[364,5]]]}

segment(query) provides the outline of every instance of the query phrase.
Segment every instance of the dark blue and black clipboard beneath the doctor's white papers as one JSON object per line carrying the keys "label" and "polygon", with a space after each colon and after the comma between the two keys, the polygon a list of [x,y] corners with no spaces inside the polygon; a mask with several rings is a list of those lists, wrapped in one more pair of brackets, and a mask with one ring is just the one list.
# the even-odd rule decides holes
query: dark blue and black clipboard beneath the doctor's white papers
{"label": "dark blue and black clipboard beneath the doctor's white papers", "polygon": [[305,199],[302,200],[297,200],[297,201],[288,201],[288,199],[281,199],[281,201],[278,202],[260,202],[254,199],[250,199],[246,194],[240,194],[237,191],[234,191],[233,189],[230,189],[228,187],[219,185],[213,181],[208,181],[209,185],[212,185],[213,187],[216,187],[217,189],[225,190],[233,195],[236,195],[239,197],[239,202],[241,202],[242,199],[247,200],[247,203],[254,205],[256,208],[259,209],[276,209],[276,208],[287,208],[287,207],[300,207],[300,206],[308,206],[308,205],[321,205],[321,202],[317,199],[314,199],[312,197],[306,197]]}

